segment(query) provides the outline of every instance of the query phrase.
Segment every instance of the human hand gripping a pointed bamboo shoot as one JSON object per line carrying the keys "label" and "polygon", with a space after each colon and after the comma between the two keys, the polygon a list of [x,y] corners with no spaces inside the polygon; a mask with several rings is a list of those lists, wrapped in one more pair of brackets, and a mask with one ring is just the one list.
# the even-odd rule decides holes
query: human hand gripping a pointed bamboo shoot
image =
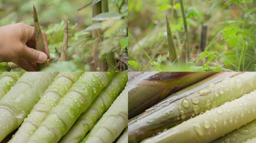
{"label": "human hand gripping a pointed bamboo shoot", "polygon": [[26,71],[37,71],[36,63],[50,58],[47,37],[42,31],[45,52],[35,50],[34,27],[16,23],[0,27],[0,62],[9,62]]}

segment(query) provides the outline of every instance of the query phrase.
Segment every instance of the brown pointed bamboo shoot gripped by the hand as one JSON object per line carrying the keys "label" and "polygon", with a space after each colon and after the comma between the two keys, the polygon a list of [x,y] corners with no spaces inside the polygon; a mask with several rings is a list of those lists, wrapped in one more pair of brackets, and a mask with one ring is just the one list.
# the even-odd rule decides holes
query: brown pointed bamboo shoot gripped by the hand
{"label": "brown pointed bamboo shoot gripped by the hand", "polygon": [[[38,21],[38,17],[37,17],[37,12],[36,12],[36,6],[33,5],[33,18],[34,18],[34,29],[35,29],[35,32],[34,32],[34,37],[36,38],[36,50],[38,51],[42,51],[43,53],[45,53],[45,45],[43,44],[43,36],[42,36],[42,31],[41,31],[41,28],[40,28],[40,25],[39,25],[39,21]],[[37,68],[38,70],[41,70],[45,67],[48,67],[49,63],[48,61],[46,60],[45,63],[37,63]]]}

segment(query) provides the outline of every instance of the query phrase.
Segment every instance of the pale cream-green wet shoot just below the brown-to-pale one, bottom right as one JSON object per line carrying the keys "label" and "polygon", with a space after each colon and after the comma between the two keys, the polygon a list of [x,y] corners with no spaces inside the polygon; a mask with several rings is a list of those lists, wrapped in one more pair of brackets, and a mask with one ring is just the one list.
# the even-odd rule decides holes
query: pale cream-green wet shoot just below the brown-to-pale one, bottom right
{"label": "pale cream-green wet shoot just below the brown-to-pale one, bottom right", "polygon": [[245,94],[161,134],[145,139],[141,143],[211,142],[256,119],[255,96],[256,91]]}

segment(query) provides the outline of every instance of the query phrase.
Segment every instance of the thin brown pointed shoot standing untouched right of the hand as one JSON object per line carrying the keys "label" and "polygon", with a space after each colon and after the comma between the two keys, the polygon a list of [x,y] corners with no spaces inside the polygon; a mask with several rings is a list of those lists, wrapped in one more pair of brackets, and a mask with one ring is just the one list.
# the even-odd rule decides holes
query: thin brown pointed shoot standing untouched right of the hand
{"label": "thin brown pointed shoot standing untouched right of the hand", "polygon": [[68,48],[68,19],[64,29],[63,44],[61,48],[61,56],[59,61],[67,61],[67,48]]}

